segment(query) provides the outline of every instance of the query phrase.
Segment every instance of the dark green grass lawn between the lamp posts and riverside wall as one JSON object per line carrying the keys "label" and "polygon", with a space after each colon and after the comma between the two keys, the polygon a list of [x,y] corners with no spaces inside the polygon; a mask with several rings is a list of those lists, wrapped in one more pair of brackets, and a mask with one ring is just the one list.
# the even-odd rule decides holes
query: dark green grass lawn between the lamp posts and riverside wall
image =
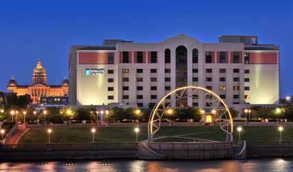
{"label": "dark green grass lawn between the lamp posts and riverside wall", "polygon": [[[48,136],[45,128],[30,129],[19,141],[19,144],[47,143]],[[219,127],[161,127],[156,136],[175,136],[181,134],[192,134],[188,138],[203,138],[208,140],[224,141],[226,134]],[[234,140],[238,140],[238,131],[234,133]],[[135,142],[133,127],[100,127],[95,134],[98,142]],[[147,139],[147,127],[140,127],[138,140]],[[283,140],[293,141],[293,127],[284,127]],[[85,143],[91,142],[91,128],[53,128],[51,133],[52,143]],[[241,140],[262,141],[279,140],[278,127],[243,127]],[[182,138],[164,138],[157,141],[190,141]]]}

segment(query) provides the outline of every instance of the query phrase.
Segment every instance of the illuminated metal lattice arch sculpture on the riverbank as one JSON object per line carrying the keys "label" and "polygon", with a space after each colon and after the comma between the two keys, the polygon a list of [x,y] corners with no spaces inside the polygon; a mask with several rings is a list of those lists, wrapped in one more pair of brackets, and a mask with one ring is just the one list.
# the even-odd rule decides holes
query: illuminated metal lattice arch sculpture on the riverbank
{"label": "illuminated metal lattice arch sculpture on the riverbank", "polygon": [[[169,96],[170,100],[167,100],[166,98]],[[154,134],[160,129],[161,119],[166,110],[171,107],[172,103],[175,103],[181,98],[187,97],[200,99],[205,103],[208,103],[210,108],[216,111],[220,127],[226,133],[226,142],[229,140],[232,142],[233,120],[228,106],[224,103],[224,100],[221,100],[221,98],[214,92],[197,86],[187,86],[175,89],[169,94],[166,94],[158,103],[155,104],[155,107],[153,107],[153,110],[151,111],[151,116],[149,117],[149,142],[153,140]]]}

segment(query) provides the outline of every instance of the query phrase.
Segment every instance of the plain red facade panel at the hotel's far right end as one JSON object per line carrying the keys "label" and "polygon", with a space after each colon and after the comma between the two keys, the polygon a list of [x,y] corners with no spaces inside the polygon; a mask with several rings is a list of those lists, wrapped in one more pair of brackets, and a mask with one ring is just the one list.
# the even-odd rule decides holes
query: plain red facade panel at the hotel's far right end
{"label": "plain red facade panel at the hotel's far right end", "polygon": [[278,54],[276,52],[250,52],[250,64],[277,64]]}

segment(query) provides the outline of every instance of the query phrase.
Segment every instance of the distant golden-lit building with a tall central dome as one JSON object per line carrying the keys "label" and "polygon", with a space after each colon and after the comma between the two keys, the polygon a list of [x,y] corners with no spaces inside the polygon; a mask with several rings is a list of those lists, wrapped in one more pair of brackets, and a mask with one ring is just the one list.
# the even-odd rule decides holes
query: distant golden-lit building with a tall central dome
{"label": "distant golden-lit building with a tall central dome", "polygon": [[18,85],[12,78],[7,86],[7,92],[17,93],[17,96],[30,95],[33,104],[40,104],[41,97],[68,96],[69,81],[65,78],[61,85],[47,85],[47,75],[41,61],[38,61],[32,74],[32,85]]}

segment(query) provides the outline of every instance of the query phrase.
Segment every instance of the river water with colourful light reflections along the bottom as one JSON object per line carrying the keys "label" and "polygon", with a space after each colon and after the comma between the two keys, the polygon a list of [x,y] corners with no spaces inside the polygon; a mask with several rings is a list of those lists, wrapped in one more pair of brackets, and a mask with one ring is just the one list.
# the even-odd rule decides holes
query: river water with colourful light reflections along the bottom
{"label": "river water with colourful light reflections along the bottom", "polygon": [[2,162],[0,171],[293,171],[293,158],[200,161],[96,160]]}

